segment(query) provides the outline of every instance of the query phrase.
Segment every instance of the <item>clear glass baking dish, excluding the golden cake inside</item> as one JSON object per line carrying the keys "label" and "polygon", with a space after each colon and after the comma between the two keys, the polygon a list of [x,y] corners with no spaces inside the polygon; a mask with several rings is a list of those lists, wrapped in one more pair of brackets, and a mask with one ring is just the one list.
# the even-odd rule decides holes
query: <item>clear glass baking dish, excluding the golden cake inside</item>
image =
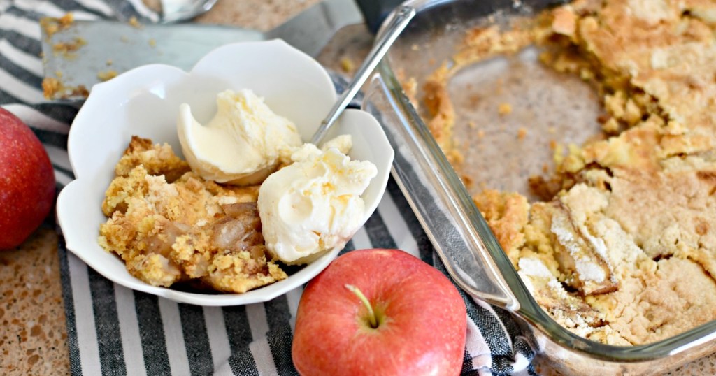
{"label": "clear glass baking dish, excluding the golden cake inside", "polygon": [[[534,14],[550,3],[405,2],[404,6],[417,10],[417,16],[379,64],[364,107],[384,125],[396,153],[392,174],[453,279],[471,296],[520,317],[533,332],[542,362],[566,374],[665,372],[715,352],[716,321],[633,347],[601,344],[572,334],[538,306],[470,198],[470,191],[484,186],[481,183],[530,197],[527,178],[545,172],[553,140],[579,144],[599,132],[596,117],[601,106],[594,90],[576,77],[548,72],[538,63],[533,48],[460,71],[450,82],[451,92],[465,92],[455,100],[458,120],[453,132],[460,135],[458,140],[473,145],[465,148],[465,156],[475,163],[461,170],[476,180],[469,188],[432,137],[420,108],[412,105],[403,90],[407,79],[416,79],[420,87],[422,77],[449,60],[468,29],[506,25],[509,19]],[[516,109],[512,120],[495,111],[505,101]],[[487,127],[478,132],[475,121]]]}

